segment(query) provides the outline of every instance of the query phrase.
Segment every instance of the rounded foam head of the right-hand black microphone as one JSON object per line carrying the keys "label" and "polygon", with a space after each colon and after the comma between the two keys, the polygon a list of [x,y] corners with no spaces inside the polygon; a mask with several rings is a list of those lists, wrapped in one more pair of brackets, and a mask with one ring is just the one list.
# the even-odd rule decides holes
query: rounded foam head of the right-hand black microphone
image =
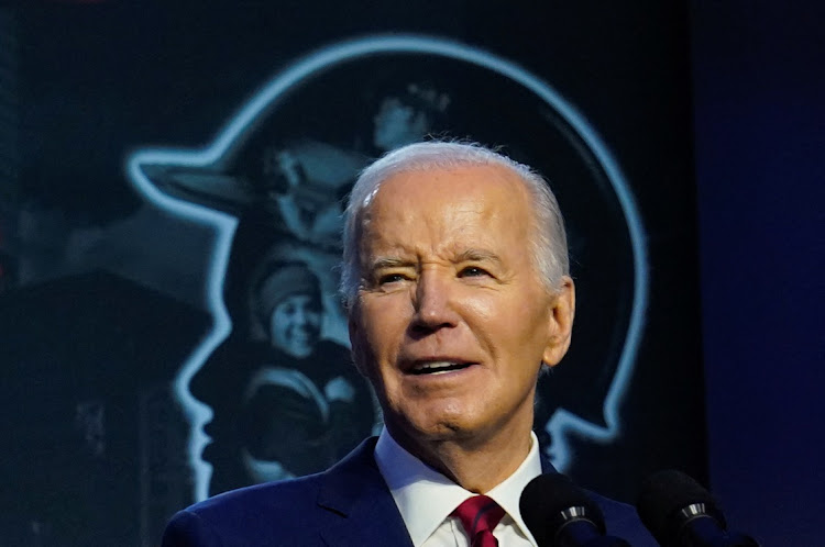
{"label": "rounded foam head of the right-hand black microphone", "polygon": [[[690,512],[683,511],[689,507]],[[641,522],[662,546],[679,545],[683,525],[695,516],[710,516],[722,529],[727,526],[711,492],[673,469],[658,471],[645,479],[636,509]]]}

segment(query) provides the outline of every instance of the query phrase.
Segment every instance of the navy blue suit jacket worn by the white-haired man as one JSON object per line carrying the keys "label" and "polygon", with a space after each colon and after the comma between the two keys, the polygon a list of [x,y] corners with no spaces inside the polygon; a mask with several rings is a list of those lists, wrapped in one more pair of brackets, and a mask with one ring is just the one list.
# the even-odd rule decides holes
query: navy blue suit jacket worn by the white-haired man
{"label": "navy blue suit jacket worn by the white-haired man", "polygon": [[[393,494],[375,464],[377,437],[327,471],[227,492],[178,512],[163,547],[413,547]],[[542,462],[544,472],[556,472]],[[636,510],[597,494],[607,533],[656,546]]]}

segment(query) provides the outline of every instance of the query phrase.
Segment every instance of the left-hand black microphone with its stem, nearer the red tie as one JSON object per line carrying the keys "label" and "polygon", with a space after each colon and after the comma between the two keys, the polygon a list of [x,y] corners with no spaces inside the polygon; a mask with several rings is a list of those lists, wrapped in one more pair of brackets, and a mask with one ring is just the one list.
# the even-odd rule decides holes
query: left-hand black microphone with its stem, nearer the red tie
{"label": "left-hand black microphone with its stem, nearer the red tie", "polygon": [[539,547],[630,547],[624,539],[605,536],[602,510],[563,475],[532,479],[518,506]]}

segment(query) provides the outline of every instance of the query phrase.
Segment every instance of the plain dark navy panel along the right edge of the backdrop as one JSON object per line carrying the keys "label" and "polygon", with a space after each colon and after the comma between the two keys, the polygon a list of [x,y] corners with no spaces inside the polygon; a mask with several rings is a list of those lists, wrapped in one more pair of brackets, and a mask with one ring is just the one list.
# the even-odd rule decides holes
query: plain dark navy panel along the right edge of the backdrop
{"label": "plain dark navy panel along the right edge of the backdrop", "polygon": [[711,483],[765,545],[820,545],[825,10],[695,2]]}

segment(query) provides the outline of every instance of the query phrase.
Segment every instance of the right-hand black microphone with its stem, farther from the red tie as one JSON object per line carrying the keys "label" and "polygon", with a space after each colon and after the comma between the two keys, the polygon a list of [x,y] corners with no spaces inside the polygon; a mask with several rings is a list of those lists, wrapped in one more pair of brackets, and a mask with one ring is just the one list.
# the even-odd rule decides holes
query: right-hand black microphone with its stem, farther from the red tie
{"label": "right-hand black microphone with its stem, farther from the red tie", "polygon": [[752,537],[728,532],[711,493],[681,471],[648,477],[636,506],[661,547],[759,547]]}

